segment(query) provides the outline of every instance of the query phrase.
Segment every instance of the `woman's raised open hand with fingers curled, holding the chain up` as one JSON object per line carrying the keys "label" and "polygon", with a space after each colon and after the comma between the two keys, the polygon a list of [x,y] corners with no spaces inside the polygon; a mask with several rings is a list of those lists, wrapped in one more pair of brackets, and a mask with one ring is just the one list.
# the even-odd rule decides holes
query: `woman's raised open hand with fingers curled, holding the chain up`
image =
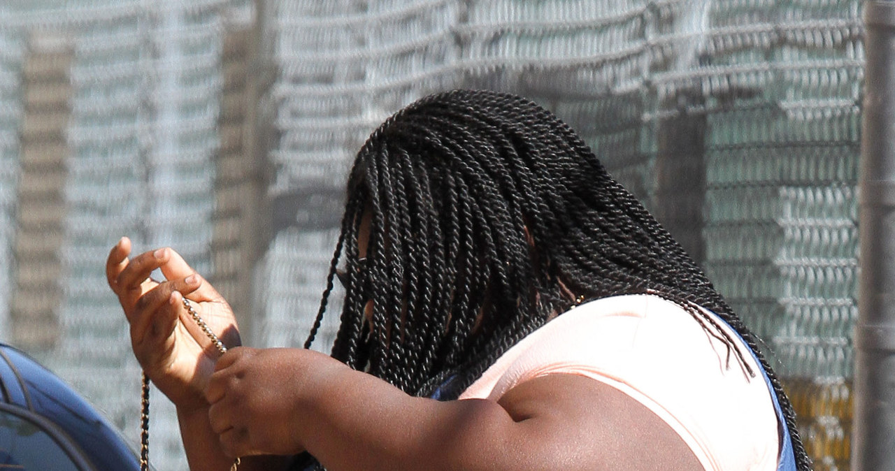
{"label": "woman's raised open hand with fingers curled, holding the chain up", "polygon": [[[131,255],[122,238],[109,252],[106,276],[131,324],[131,345],[143,371],[178,409],[208,408],[204,391],[220,355],[183,307],[183,297],[228,348],[240,344],[233,310],[171,248]],[[160,269],[166,281],[149,278]]]}

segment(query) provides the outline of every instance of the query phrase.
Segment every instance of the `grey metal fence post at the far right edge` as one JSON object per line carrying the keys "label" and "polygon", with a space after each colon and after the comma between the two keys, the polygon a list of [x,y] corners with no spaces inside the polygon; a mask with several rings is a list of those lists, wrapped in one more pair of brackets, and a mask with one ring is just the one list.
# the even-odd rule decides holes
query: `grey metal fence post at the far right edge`
{"label": "grey metal fence post at the far right edge", "polygon": [[851,465],[895,470],[895,2],[864,4],[860,282]]}

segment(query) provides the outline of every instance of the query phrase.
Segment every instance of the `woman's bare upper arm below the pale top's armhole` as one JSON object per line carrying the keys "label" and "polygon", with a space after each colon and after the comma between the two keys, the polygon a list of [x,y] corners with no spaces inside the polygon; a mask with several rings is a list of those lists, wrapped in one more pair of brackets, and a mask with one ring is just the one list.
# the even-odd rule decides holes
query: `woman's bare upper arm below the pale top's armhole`
{"label": "woman's bare upper arm below the pale top's armhole", "polygon": [[516,385],[498,403],[525,427],[533,456],[550,457],[557,468],[703,469],[659,416],[591,378],[547,374]]}

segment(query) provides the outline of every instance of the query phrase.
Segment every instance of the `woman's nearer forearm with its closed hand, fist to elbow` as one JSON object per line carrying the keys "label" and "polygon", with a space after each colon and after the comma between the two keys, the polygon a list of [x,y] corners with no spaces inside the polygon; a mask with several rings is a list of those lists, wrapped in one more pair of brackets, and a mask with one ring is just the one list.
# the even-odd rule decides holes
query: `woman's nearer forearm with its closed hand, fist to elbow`
{"label": "woman's nearer forearm with its closed hand, fist to elbow", "polygon": [[306,349],[231,349],[206,397],[223,450],[307,450],[333,471],[518,469],[507,446],[537,446],[497,402],[413,397]]}

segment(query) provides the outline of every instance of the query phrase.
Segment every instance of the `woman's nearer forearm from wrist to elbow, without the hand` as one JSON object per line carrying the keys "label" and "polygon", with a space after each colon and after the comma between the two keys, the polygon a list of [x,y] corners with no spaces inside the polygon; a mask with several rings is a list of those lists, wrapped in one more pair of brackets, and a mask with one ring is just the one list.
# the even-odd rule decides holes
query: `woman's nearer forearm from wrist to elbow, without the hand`
{"label": "woman's nearer forearm from wrist to elbow, without the hand", "polygon": [[513,442],[514,421],[497,403],[415,398],[331,358],[315,360],[294,432],[328,469],[504,468],[494,445]]}

